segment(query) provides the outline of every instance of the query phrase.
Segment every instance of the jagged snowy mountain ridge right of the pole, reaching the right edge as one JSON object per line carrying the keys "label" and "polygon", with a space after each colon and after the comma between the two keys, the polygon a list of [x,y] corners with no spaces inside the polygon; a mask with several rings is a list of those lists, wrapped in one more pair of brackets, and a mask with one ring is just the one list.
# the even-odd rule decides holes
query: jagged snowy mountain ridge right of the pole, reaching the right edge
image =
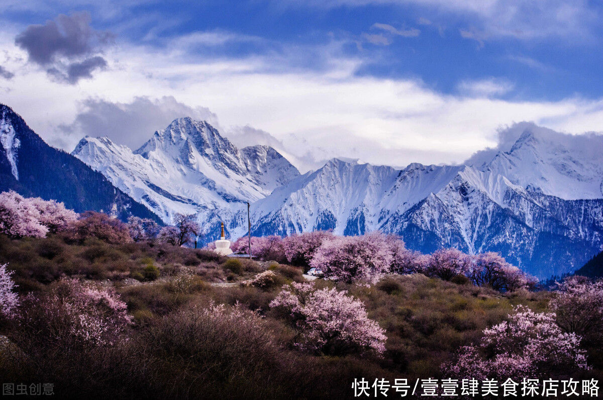
{"label": "jagged snowy mountain ridge right of the pole, reaching the right edge", "polygon": [[425,253],[499,251],[538,277],[570,272],[603,249],[603,137],[549,135],[526,124],[479,167],[331,160],[253,204],[254,233],[381,230]]}

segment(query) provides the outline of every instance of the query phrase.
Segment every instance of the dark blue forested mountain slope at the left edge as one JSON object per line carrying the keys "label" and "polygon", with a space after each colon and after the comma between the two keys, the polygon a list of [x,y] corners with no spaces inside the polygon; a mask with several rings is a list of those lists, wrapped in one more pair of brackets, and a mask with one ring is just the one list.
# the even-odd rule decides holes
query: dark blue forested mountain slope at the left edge
{"label": "dark blue forested mountain slope at the left edge", "polygon": [[104,211],[122,220],[134,215],[159,221],[147,207],[113,186],[101,173],[48,146],[8,106],[0,105],[0,192],[55,199],[75,211]]}

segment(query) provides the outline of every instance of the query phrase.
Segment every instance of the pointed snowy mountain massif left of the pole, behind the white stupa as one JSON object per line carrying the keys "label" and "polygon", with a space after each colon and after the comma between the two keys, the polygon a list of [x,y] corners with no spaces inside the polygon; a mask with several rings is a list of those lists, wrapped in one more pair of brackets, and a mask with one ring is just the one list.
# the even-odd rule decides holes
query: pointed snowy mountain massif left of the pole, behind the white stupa
{"label": "pointed snowy mountain massif left of the pole, behind the white stupa", "polygon": [[197,213],[207,238],[218,221],[233,226],[244,203],[270,195],[298,170],[267,146],[238,150],[205,121],[178,118],[132,151],[109,138],[83,138],[72,155],[171,223],[174,213]]}

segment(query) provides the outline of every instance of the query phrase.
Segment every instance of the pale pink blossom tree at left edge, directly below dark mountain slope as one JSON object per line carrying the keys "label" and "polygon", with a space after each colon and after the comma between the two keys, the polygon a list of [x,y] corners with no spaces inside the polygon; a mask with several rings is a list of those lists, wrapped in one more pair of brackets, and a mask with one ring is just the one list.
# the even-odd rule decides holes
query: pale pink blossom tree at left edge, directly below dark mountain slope
{"label": "pale pink blossom tree at left edge, directly below dark mountain slope", "polygon": [[8,237],[44,237],[48,227],[40,222],[40,211],[31,199],[10,190],[0,193],[0,233]]}

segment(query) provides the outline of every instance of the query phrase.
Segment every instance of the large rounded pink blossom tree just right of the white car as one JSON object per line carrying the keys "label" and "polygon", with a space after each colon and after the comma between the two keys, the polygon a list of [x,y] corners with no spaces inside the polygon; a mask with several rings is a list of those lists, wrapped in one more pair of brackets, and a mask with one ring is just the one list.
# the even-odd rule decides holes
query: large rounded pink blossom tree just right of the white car
{"label": "large rounded pink blossom tree just right of the white car", "polygon": [[346,283],[377,282],[390,271],[393,260],[385,235],[338,236],[324,242],[310,266],[322,269],[325,277]]}

